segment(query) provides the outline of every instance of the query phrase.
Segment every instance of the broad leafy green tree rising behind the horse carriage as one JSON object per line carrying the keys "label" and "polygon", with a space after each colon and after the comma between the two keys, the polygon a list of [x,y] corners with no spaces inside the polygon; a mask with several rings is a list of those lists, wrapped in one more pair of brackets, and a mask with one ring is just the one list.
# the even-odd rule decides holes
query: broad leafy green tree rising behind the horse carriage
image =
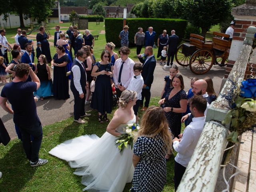
{"label": "broad leafy green tree rising behind the horse carriage", "polygon": [[180,0],[177,12],[194,26],[202,29],[202,36],[213,25],[225,18],[225,12],[230,12],[231,0]]}

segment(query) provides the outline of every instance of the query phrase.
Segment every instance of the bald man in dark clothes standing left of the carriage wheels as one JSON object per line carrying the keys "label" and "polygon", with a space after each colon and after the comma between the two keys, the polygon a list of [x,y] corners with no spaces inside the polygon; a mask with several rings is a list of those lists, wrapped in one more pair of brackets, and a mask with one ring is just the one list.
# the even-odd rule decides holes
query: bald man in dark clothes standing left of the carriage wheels
{"label": "bald man in dark clothes standing left of the carriage wheels", "polygon": [[179,37],[175,34],[175,30],[172,30],[171,34],[172,35],[169,36],[168,41],[166,43],[166,46],[169,45],[169,47],[167,52],[167,55],[168,55],[167,64],[164,67],[170,67],[170,60],[171,60],[171,65],[173,64],[174,55],[177,50]]}

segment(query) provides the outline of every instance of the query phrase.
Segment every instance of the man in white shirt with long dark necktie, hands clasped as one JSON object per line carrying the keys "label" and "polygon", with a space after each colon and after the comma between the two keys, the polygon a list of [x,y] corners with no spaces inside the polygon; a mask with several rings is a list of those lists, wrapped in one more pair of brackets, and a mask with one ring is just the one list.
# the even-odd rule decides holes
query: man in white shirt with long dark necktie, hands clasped
{"label": "man in white shirt with long dark necktie, hands clasped", "polygon": [[113,79],[116,87],[117,99],[119,99],[122,92],[127,89],[134,76],[134,61],[128,57],[130,52],[131,51],[128,47],[121,47],[118,51],[120,58],[117,59],[114,64]]}

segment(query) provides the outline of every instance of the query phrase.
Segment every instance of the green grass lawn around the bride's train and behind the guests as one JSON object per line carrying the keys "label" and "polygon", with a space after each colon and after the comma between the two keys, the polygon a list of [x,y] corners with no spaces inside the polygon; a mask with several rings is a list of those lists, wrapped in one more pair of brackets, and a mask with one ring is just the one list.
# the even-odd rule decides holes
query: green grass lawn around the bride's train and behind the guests
{"label": "green grass lawn around the bride's train and behind the guests", "polygon": [[[70,23],[60,24],[63,27],[68,27]],[[51,29],[55,24],[48,24],[50,34],[54,35],[54,29]],[[6,29],[6,38],[10,43],[14,43],[12,36],[16,35],[16,29]],[[26,29],[26,28],[25,28]],[[104,30],[104,23],[96,25],[96,22],[89,22],[89,29],[92,34],[99,34],[98,40],[95,40],[94,55],[96,60],[100,60],[100,54],[104,50],[106,39],[104,34],[100,34]],[[67,29],[63,29],[66,31]],[[84,30],[80,30],[82,33]],[[34,32],[33,34],[36,34]],[[50,40],[52,41],[52,40]],[[34,47],[36,48],[36,47]],[[55,48],[50,47],[52,56],[55,54]],[[129,55],[135,61],[136,48],[130,48]],[[118,48],[115,49],[118,52]],[[156,50],[154,50],[156,52]],[[35,61],[36,62],[36,61]],[[158,106],[159,97],[151,98],[150,105]],[[111,118],[113,116],[111,114]],[[61,122],[56,122],[43,127],[44,137],[40,149],[40,158],[49,160],[48,164],[37,168],[32,168],[26,159],[22,143],[20,140],[12,140],[7,146],[0,145],[0,171],[3,172],[3,177],[0,179],[1,192],[80,192],[84,186],[80,183],[81,177],[73,174],[74,169],[70,168],[68,163],[48,154],[52,148],[65,140],[81,136],[84,134],[97,134],[102,136],[106,131],[107,123],[100,124],[97,119],[97,112],[91,111],[92,116],[85,118],[85,124],[77,124],[70,117]],[[142,113],[139,111],[139,116]],[[184,126],[182,127],[182,129]],[[103,157],[104,158],[104,157]],[[167,183],[164,187],[164,192],[174,191],[174,156],[167,162]],[[131,184],[127,184],[124,192],[128,192]]]}

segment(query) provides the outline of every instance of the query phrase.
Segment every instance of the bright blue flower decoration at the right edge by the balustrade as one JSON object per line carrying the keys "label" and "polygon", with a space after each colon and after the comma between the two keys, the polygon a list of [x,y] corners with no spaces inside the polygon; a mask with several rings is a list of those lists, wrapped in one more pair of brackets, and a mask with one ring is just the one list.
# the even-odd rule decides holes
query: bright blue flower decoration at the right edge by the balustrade
{"label": "bright blue flower decoration at the right edge by the balustrade", "polygon": [[242,82],[240,95],[246,98],[256,97],[256,79],[247,79]]}

